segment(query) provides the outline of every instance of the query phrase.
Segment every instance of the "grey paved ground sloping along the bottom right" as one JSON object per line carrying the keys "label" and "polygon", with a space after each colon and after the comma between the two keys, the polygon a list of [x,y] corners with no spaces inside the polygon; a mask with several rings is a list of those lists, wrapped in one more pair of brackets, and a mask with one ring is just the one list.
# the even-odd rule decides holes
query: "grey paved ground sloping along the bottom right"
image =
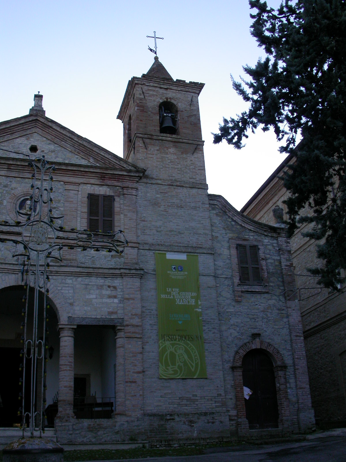
{"label": "grey paved ground sloping along the bottom right", "polygon": [[[113,459],[109,462],[118,462],[118,460]],[[346,462],[346,429],[316,433],[299,443],[245,445],[231,450],[211,448],[209,454],[203,456],[128,459],[130,460],[133,462]]]}

